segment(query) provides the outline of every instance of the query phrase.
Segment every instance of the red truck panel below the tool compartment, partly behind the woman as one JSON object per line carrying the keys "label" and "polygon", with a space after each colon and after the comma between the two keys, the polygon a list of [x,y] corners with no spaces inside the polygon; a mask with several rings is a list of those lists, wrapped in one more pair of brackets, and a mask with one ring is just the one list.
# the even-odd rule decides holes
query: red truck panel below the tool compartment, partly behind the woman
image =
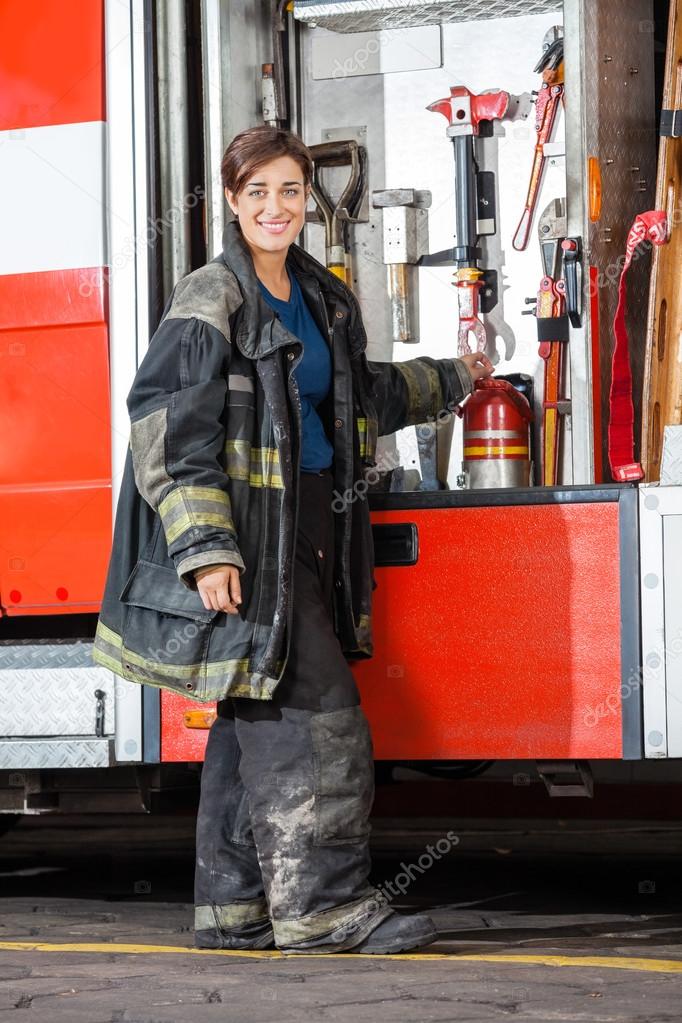
{"label": "red truck panel below the tool compartment, partly behind the woman", "polygon": [[[376,568],[375,654],[354,665],[377,759],[622,757],[620,514],[372,513],[419,541],[415,565]],[[198,706],[162,694],[162,759],[201,759]]]}

